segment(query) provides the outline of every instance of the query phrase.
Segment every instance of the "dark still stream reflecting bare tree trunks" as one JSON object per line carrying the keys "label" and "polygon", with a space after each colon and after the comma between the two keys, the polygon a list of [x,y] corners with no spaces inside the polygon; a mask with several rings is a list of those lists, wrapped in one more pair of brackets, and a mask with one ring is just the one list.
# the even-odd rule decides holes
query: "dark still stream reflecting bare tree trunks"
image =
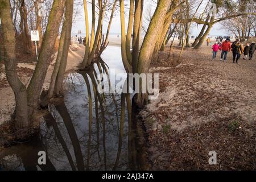
{"label": "dark still stream reflecting bare tree trunks", "polygon": [[[95,76],[114,69],[125,72],[120,47],[108,47],[94,71],[72,73],[65,79],[65,97],[48,106],[40,131],[27,142],[0,151],[4,170],[129,170],[134,169],[134,130],[121,94],[97,92]],[[109,81],[109,80],[105,80]],[[122,102],[122,107],[121,107]],[[121,120],[123,109],[123,120]],[[40,151],[46,164],[40,165]],[[42,158],[40,158],[42,159]],[[39,161],[40,162],[40,161]]]}

